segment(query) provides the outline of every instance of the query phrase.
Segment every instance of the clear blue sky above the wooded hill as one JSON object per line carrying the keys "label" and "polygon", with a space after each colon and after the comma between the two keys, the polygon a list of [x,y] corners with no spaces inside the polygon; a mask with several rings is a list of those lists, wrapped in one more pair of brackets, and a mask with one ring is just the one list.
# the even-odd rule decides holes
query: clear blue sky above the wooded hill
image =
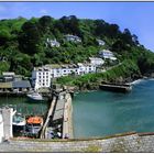
{"label": "clear blue sky above the wooded hill", "polygon": [[0,2],[0,19],[42,15],[102,19],[118,24],[121,31],[129,29],[154,52],[154,2]]}

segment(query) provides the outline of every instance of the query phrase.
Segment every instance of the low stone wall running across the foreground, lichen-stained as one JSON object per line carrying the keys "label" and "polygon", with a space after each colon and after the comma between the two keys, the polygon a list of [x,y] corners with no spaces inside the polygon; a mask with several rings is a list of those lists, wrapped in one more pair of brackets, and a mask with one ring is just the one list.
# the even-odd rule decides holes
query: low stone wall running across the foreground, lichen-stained
{"label": "low stone wall running across the foreground, lichen-stained", "polygon": [[154,152],[154,133],[90,140],[11,139],[0,144],[0,152]]}

